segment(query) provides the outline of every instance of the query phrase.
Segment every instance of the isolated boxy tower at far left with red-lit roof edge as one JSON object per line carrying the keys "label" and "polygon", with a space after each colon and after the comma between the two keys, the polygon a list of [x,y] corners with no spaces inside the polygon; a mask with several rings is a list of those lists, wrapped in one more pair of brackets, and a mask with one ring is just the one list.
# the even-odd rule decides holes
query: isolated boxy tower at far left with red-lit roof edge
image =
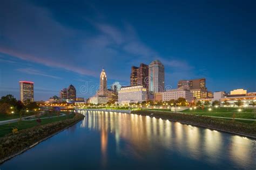
{"label": "isolated boxy tower at far left with red-lit roof edge", "polygon": [[19,81],[19,89],[21,93],[21,101],[34,101],[34,83],[30,81]]}

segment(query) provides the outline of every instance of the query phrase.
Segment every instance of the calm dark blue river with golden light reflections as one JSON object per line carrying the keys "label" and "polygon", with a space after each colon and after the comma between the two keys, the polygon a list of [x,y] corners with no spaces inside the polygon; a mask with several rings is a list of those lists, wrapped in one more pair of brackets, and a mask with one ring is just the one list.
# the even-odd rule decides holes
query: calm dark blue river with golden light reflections
{"label": "calm dark blue river with golden light reflections", "polygon": [[83,121],[5,169],[256,169],[256,142],[164,119],[80,111]]}

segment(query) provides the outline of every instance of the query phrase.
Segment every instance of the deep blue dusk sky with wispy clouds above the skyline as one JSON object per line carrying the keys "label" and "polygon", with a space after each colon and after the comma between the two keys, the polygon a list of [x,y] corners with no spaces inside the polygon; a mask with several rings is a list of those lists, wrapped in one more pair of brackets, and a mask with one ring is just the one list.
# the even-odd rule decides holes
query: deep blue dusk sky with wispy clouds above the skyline
{"label": "deep blue dusk sky with wispy clouds above the skyline", "polygon": [[[256,91],[255,1],[1,1],[0,95],[35,100],[73,84],[90,97],[102,68],[129,85],[131,66],[159,59],[165,84],[206,77],[211,91]],[[87,82],[90,91],[82,91]]]}

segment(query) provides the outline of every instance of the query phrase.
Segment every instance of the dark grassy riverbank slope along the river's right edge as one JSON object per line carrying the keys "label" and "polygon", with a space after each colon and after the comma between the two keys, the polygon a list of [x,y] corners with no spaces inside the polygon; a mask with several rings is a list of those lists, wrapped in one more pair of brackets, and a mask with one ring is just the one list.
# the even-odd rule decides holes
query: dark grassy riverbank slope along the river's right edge
{"label": "dark grassy riverbank slope along the river's right edge", "polygon": [[203,128],[223,131],[227,133],[237,134],[248,138],[256,139],[256,126],[240,122],[227,121],[206,116],[196,116],[188,114],[167,113],[160,111],[136,110],[131,111],[131,114],[151,116],[156,118],[169,119],[170,121],[180,122],[200,126]]}

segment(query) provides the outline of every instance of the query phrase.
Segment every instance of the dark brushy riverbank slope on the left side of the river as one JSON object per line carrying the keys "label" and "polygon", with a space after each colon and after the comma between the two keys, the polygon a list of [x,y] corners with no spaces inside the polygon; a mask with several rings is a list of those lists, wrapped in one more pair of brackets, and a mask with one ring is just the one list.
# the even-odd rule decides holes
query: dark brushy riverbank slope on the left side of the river
{"label": "dark brushy riverbank slope on the left side of the river", "polygon": [[73,118],[65,119],[54,123],[35,126],[30,129],[18,131],[0,138],[0,164],[15,157],[18,154],[29,150],[55,134],[69,128],[84,118],[82,114],[75,114]]}

